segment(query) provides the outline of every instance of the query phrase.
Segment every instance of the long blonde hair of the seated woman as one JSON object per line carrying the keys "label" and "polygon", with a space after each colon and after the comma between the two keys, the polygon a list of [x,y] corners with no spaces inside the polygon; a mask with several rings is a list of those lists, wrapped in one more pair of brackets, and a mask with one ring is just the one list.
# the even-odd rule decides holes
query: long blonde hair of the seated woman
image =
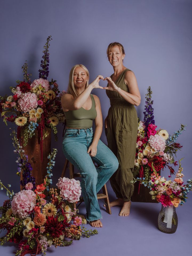
{"label": "long blonde hair of the seated woman", "polygon": [[73,96],[73,98],[76,98],[78,96],[77,90],[76,90],[76,88],[74,86],[74,83],[73,83],[73,74],[74,74],[74,70],[76,69],[76,67],[82,67],[83,69],[85,69],[85,72],[86,72],[87,77],[88,77],[86,85],[85,85],[85,89],[89,85],[89,71],[88,71],[88,69],[82,64],[77,64],[77,65],[73,66],[70,73],[69,73],[69,85],[68,85],[68,91],[67,91],[67,93],[71,94]]}

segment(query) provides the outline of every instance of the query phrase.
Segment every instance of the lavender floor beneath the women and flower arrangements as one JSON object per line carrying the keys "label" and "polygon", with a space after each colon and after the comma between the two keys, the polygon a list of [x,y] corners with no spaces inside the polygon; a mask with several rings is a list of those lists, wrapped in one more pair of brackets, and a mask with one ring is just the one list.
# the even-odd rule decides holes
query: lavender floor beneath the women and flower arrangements
{"label": "lavender floor beneath the women and flower arrangements", "polygon": [[[110,184],[107,184],[110,199],[115,199]],[[7,199],[1,193],[0,204]],[[120,207],[111,208],[112,214],[106,213],[103,202],[99,200],[103,227],[97,228],[98,234],[90,238],[82,237],[79,241],[73,241],[68,247],[50,247],[47,255],[78,255],[78,256],[118,256],[118,255],[155,255],[155,256],[180,256],[191,255],[192,222],[191,210],[192,200],[189,199],[176,211],[178,215],[178,228],[174,234],[165,234],[159,231],[157,226],[158,214],[161,205],[157,203],[135,203],[131,204],[131,213],[128,217],[118,216]],[[84,203],[79,211],[85,214]],[[90,229],[90,225],[86,225]],[[1,233],[3,235],[3,232]],[[17,247],[14,243],[6,243],[0,247],[0,255],[14,255]]]}

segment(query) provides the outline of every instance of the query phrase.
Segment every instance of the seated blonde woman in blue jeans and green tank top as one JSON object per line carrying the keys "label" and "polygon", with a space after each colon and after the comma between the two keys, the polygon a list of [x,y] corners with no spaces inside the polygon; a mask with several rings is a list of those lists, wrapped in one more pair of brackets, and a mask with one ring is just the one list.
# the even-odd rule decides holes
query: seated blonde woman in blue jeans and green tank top
{"label": "seated blonde woman in blue jeans and green tank top", "polygon": [[[86,207],[86,218],[93,227],[102,227],[101,211],[97,192],[118,168],[113,152],[100,141],[102,133],[102,113],[99,98],[91,94],[99,86],[102,75],[89,84],[89,71],[83,65],[72,67],[69,75],[68,93],[61,98],[66,117],[63,139],[65,157],[81,173],[81,189]],[[92,125],[95,122],[95,133]],[[99,167],[95,168],[93,161]]]}

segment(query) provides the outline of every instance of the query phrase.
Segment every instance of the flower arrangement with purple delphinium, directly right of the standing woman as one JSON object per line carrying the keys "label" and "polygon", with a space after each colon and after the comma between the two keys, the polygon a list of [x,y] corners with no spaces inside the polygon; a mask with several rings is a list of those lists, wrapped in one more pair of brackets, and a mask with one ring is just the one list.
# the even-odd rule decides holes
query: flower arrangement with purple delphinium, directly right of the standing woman
{"label": "flower arrangement with purple delphinium, directly right of the standing woman", "polygon": [[[170,173],[174,173],[173,167],[177,165],[174,160],[177,150],[182,146],[176,143],[179,134],[185,130],[186,125],[181,124],[181,128],[172,136],[166,130],[157,129],[153,115],[153,101],[151,100],[151,88],[147,89],[145,101],[144,121],[138,123],[137,149],[135,156],[134,178],[139,175],[139,178],[150,180],[151,173],[155,170],[157,173],[164,167],[168,167]],[[140,183],[139,183],[140,187]],[[138,191],[139,193],[139,191]]]}

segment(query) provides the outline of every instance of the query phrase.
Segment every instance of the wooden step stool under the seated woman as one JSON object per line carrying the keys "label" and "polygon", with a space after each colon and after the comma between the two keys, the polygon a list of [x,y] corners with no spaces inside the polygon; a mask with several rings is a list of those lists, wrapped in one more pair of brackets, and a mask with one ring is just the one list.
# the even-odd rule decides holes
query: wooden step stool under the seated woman
{"label": "wooden step stool under the seated woman", "polygon": [[[69,160],[66,159],[64,167],[63,167],[63,171],[62,171],[62,174],[61,174],[61,178],[63,178],[65,176],[66,169],[68,167],[68,163],[69,163],[69,176],[70,176],[70,179],[81,177],[80,173],[74,173],[74,166],[73,166],[73,164],[70,163]],[[106,211],[107,211],[107,213],[111,214],[111,207],[110,207],[110,203],[109,203],[109,197],[108,197],[108,193],[107,193],[106,184],[102,187],[102,190],[103,190],[103,194],[97,194],[97,199],[104,199],[105,206],[106,206]],[[78,202],[82,203],[83,201],[84,201],[83,197],[80,197]],[[74,203],[74,208],[76,208],[76,204],[75,203]]]}

